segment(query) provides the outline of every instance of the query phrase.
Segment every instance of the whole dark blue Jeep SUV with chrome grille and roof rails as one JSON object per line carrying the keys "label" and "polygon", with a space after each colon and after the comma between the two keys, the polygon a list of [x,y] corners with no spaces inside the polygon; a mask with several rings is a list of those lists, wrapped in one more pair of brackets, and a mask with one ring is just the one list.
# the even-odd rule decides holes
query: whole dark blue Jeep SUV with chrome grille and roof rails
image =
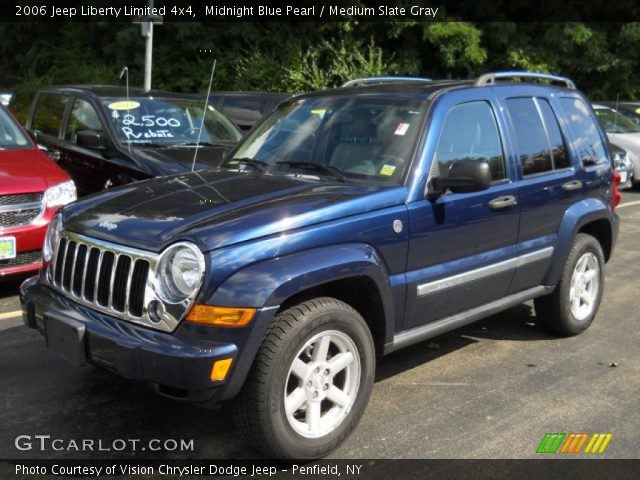
{"label": "whole dark blue Jeep SUV with chrome grille and roof rails", "polygon": [[216,170],[66,206],[23,316],[77,365],[232,401],[256,448],[317,458],[355,428],[377,356],[531,299],[540,324],[585,330],[619,201],[562,77],[309,93]]}

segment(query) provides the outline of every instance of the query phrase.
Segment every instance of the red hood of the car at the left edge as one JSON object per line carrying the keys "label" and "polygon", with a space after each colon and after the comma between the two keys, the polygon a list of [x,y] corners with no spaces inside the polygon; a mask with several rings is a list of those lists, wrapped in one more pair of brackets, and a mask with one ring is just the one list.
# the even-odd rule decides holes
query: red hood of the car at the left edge
{"label": "red hood of the car at the left edge", "polygon": [[69,176],[37,148],[0,150],[0,195],[44,192]]}

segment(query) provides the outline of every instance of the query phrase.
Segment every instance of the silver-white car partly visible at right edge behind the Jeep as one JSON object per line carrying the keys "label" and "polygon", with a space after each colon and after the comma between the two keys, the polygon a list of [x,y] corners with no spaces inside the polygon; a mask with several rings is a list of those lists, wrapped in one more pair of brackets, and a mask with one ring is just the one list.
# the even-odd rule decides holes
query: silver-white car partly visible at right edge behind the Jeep
{"label": "silver-white car partly visible at right edge behind the Jeep", "polygon": [[592,106],[609,141],[626,150],[633,164],[631,182],[637,185],[640,183],[640,126],[611,107],[599,103]]}

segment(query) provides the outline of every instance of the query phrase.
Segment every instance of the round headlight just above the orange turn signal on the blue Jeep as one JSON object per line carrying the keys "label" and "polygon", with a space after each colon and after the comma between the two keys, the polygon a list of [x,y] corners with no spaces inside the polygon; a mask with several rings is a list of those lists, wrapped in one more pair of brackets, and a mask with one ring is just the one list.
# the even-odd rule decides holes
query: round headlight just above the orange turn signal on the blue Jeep
{"label": "round headlight just above the orange turn signal on the blue Jeep", "polygon": [[195,293],[204,275],[204,256],[195,245],[180,242],[167,248],[158,262],[158,294],[178,303]]}

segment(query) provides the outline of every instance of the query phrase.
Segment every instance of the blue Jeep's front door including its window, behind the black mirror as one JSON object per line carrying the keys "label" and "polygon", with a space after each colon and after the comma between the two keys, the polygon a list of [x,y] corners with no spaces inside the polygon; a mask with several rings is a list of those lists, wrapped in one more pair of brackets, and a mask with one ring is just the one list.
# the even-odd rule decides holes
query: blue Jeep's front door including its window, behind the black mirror
{"label": "blue Jeep's front door including its window, behind the black mirror", "polygon": [[494,182],[487,190],[447,192],[409,205],[404,330],[497,300],[509,288],[520,206],[494,112],[490,99],[446,106],[431,177],[472,159],[489,163]]}

